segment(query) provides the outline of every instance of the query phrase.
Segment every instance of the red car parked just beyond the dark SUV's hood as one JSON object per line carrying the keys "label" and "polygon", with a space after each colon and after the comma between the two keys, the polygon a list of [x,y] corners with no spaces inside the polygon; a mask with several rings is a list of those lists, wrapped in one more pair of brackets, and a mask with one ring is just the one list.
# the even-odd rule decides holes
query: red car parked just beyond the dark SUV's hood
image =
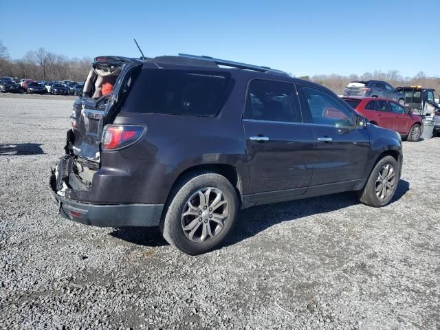
{"label": "red car parked just beyond the dark SUV's hood", "polygon": [[419,115],[402,107],[398,102],[384,98],[342,98],[367,118],[371,124],[397,131],[408,141],[420,140],[423,122]]}

